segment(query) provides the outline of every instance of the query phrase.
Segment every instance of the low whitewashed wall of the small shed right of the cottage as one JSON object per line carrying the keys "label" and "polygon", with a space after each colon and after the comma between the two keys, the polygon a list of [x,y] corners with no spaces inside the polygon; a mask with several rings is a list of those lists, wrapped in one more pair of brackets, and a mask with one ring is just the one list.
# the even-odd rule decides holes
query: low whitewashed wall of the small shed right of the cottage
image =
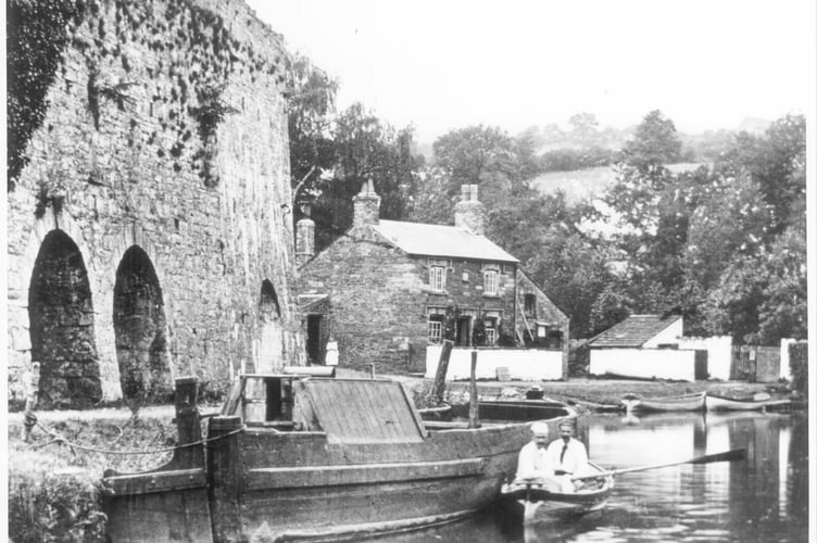
{"label": "low whitewashed wall of the small shed right of the cottage", "polygon": [[675,349],[591,349],[593,375],[695,380],[695,352]]}

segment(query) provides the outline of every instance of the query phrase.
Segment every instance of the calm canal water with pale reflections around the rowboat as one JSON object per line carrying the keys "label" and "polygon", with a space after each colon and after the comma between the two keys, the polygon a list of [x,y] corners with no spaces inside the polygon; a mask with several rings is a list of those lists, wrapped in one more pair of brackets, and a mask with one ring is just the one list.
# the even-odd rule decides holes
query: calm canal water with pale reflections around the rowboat
{"label": "calm canal water with pale reflections around the rowboat", "polygon": [[804,414],[661,414],[583,417],[579,434],[606,468],[683,460],[745,447],[747,459],[680,465],[616,478],[601,514],[570,523],[521,526],[514,507],[403,542],[781,542],[808,541],[808,421]]}

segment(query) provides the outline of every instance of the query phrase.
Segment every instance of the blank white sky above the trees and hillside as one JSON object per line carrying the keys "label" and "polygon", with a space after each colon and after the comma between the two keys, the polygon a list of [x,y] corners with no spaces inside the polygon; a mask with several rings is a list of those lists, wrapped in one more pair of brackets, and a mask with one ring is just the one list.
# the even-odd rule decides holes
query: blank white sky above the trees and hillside
{"label": "blank white sky above the trees and hillside", "polygon": [[511,135],[579,112],[601,127],[661,110],[680,131],[810,114],[814,0],[249,0],[360,101],[418,141]]}

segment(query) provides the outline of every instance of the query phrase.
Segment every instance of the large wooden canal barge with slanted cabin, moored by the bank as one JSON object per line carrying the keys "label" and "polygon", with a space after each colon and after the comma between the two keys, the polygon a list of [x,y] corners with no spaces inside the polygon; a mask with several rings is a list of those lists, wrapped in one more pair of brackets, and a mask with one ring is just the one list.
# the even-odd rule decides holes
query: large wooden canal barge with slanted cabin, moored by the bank
{"label": "large wooden canal barge with slanted cabin, moored by the bank", "polygon": [[[556,424],[561,405],[541,412]],[[456,520],[499,497],[528,422],[424,421],[401,383],[244,375],[201,437],[194,379],[176,382],[179,449],[108,470],[117,542],[360,539]]]}

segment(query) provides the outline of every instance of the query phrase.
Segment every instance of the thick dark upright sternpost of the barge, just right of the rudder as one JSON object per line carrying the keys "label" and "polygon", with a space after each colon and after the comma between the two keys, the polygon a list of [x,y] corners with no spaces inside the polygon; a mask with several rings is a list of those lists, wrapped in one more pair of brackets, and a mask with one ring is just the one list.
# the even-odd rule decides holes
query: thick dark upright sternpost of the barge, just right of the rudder
{"label": "thick dark upright sternpost of the barge, just right of the rudder", "polygon": [[[213,541],[244,541],[241,522],[241,417],[213,417],[208,431],[208,487]],[[217,439],[221,438],[221,439]]]}

